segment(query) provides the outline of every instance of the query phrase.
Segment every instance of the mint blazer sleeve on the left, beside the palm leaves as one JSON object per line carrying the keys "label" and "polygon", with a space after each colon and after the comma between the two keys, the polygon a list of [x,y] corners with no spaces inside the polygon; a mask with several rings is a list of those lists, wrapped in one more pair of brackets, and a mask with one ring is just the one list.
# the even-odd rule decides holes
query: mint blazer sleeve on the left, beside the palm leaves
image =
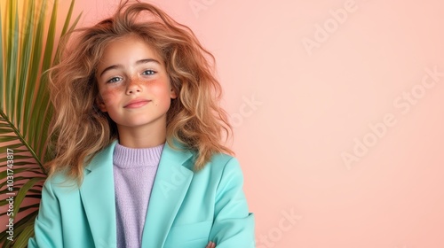
{"label": "mint blazer sleeve on the left, beside the palm leaves", "polygon": [[28,247],[63,247],[59,200],[52,190],[50,179],[44,182],[42,200],[34,224],[35,236],[29,238]]}

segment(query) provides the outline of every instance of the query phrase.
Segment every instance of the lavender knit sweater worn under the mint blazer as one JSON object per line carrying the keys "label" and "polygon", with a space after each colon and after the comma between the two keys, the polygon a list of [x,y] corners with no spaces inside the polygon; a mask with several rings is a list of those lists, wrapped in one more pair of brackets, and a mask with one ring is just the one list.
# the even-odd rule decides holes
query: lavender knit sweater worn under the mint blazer
{"label": "lavender knit sweater worn under the mint blazer", "polygon": [[113,168],[119,248],[141,245],[149,196],[164,144],[137,149],[115,144]]}

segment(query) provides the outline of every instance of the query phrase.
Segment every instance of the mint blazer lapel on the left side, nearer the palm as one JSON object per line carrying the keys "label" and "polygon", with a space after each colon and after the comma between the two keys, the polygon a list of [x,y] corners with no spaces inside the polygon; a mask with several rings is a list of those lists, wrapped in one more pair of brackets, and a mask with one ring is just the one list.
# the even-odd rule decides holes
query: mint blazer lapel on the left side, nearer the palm
{"label": "mint blazer lapel on the left side, nearer the palm", "polygon": [[115,140],[85,167],[80,196],[95,247],[116,246],[113,152]]}

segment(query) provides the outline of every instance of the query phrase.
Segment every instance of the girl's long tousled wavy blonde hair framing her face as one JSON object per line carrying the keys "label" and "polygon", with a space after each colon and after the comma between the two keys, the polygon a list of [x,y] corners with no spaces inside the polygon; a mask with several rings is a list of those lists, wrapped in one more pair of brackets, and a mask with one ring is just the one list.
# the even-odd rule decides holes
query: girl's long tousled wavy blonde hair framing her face
{"label": "girl's long tousled wavy blonde hair framing her face", "polygon": [[194,151],[195,171],[215,152],[234,154],[221,143],[233,128],[218,105],[222,89],[214,76],[214,57],[189,27],[155,5],[126,1],[111,18],[75,29],[60,41],[59,63],[49,70],[55,112],[48,148],[55,157],[44,165],[48,174],[63,170],[81,182],[84,164],[118,138],[115,122],[99,111],[95,101],[99,94],[95,74],[107,43],[125,35],[137,35],[161,55],[171,87],[178,92],[167,112],[167,143]]}

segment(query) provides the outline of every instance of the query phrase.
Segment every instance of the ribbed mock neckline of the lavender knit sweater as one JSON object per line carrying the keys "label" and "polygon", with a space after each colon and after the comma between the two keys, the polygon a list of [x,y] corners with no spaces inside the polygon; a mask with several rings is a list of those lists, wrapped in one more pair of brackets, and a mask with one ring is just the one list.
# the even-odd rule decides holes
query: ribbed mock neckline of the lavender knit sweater
{"label": "ribbed mock neckline of the lavender knit sweater", "polygon": [[156,167],[159,164],[165,143],[147,148],[130,148],[115,143],[113,162],[115,167]]}

